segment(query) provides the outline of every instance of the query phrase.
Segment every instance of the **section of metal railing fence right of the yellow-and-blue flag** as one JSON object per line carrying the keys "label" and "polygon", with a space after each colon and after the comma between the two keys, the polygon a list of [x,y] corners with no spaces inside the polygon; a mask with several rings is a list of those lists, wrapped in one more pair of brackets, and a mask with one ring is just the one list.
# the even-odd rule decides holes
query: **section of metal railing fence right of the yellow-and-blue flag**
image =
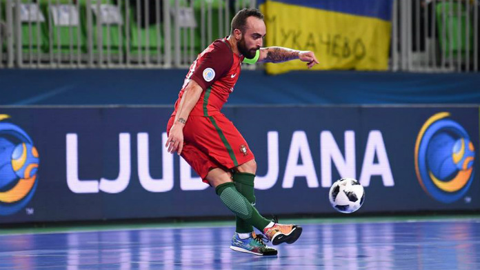
{"label": "section of metal railing fence right of the yellow-and-blue flag", "polygon": [[479,70],[478,0],[395,0],[390,69]]}

